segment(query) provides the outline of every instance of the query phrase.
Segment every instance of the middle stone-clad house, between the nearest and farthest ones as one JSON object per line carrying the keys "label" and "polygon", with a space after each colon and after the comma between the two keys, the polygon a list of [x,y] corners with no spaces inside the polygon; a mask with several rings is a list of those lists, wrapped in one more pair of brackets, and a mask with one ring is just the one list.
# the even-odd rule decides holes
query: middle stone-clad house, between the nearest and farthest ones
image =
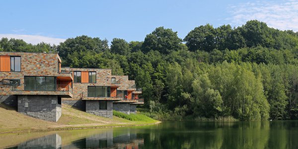
{"label": "middle stone-clad house, between the nearest and farthest ones", "polygon": [[62,102],[72,105],[87,113],[98,116],[113,117],[113,101],[122,99],[117,96],[119,81],[112,80],[110,69],[62,68],[74,77],[74,97],[63,98]]}

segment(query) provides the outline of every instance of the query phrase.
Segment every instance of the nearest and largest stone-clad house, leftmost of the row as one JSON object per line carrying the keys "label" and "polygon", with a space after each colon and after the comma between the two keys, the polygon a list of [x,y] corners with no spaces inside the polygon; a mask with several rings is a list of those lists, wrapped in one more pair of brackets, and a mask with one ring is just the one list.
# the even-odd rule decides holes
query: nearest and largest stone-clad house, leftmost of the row
{"label": "nearest and largest stone-clad house, leftmost of the row", "polygon": [[72,98],[73,76],[56,53],[0,52],[0,102],[35,118],[57,122],[61,98]]}

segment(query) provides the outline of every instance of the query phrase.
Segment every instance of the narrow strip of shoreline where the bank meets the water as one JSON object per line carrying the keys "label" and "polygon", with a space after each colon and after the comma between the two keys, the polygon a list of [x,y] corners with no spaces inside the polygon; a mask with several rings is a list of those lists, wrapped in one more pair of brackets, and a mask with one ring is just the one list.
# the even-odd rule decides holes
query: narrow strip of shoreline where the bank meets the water
{"label": "narrow strip of shoreline where the bank meets the water", "polygon": [[83,129],[100,129],[100,128],[117,128],[117,127],[134,127],[134,126],[147,126],[147,125],[155,125],[159,124],[161,121],[155,123],[148,123],[148,124],[127,124],[127,125],[102,125],[102,126],[85,126],[85,127],[57,127],[57,128],[49,128],[47,130],[30,130],[30,131],[10,131],[10,132],[0,132],[0,135],[5,134],[24,134],[24,133],[36,133],[36,132],[51,132],[51,131],[67,131],[67,130],[83,130]]}

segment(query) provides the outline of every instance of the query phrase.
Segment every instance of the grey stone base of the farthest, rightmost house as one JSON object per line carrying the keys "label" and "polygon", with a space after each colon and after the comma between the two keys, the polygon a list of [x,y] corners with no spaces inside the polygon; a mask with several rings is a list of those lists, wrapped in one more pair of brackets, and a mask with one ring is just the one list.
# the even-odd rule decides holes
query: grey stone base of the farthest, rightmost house
{"label": "grey stone base of the farthest, rightmost house", "polygon": [[137,105],[123,102],[114,102],[113,110],[125,113],[125,114],[136,114]]}

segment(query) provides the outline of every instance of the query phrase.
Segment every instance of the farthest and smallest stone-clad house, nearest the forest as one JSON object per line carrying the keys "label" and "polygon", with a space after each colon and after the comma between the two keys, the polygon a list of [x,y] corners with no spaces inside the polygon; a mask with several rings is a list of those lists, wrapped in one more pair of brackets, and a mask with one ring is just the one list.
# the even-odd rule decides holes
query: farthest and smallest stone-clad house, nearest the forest
{"label": "farthest and smallest stone-clad house, nearest the forest", "polygon": [[127,75],[113,75],[114,80],[120,80],[117,94],[122,94],[120,101],[114,101],[113,109],[126,114],[136,113],[137,104],[144,104],[144,99],[139,98],[142,88],[137,88],[135,80],[129,80]]}

